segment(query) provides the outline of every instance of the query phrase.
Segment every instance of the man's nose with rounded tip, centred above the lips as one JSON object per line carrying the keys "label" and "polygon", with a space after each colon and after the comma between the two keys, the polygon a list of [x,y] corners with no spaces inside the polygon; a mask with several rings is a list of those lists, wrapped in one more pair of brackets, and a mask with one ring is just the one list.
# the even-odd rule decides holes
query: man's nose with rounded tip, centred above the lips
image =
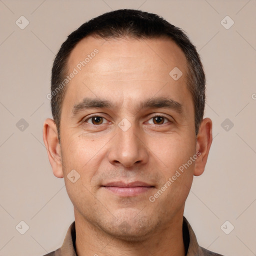
{"label": "man's nose with rounded tip, centred above the lips", "polygon": [[[121,126],[120,126],[121,127]],[[111,164],[122,164],[131,167],[148,161],[148,148],[143,141],[141,132],[131,125],[127,130],[116,127],[117,134],[113,137],[108,160]]]}

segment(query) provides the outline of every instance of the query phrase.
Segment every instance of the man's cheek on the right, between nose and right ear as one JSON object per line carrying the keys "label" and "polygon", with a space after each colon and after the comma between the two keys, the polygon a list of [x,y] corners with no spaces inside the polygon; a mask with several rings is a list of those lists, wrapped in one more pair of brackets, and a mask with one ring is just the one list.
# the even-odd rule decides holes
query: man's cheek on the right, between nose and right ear
{"label": "man's cheek on the right, between nose and right ear", "polygon": [[[161,140],[158,140],[161,141]],[[152,143],[151,150],[154,152],[162,168],[158,171],[163,176],[158,203],[166,204],[167,208],[173,209],[173,205],[179,208],[183,205],[191,187],[195,159],[195,139],[192,136],[185,137],[172,134],[164,138],[161,143]],[[161,194],[163,196],[161,196]],[[164,201],[164,202],[163,202]]]}

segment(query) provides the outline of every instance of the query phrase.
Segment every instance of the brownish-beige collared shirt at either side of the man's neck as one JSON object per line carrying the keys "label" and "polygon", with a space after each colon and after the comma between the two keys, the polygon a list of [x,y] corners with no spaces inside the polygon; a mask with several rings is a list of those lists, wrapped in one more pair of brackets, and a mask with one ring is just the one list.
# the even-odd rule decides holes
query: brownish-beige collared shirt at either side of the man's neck
{"label": "brownish-beige collared shirt at either side of the man's neck", "polygon": [[[182,232],[186,256],[223,256],[218,253],[206,250],[198,245],[195,234],[185,217],[183,217]],[[77,256],[75,253],[74,245],[75,224],[73,221],[67,230],[62,246],[55,251],[45,254],[44,256]]]}

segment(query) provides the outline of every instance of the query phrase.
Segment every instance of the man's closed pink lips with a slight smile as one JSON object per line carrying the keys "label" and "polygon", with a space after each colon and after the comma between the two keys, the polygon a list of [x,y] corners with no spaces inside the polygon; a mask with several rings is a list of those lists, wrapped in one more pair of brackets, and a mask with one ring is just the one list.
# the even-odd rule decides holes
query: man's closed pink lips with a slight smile
{"label": "man's closed pink lips with a slight smile", "polygon": [[153,185],[142,181],[134,181],[125,183],[122,181],[109,182],[102,185],[104,189],[119,196],[135,196],[150,191]]}

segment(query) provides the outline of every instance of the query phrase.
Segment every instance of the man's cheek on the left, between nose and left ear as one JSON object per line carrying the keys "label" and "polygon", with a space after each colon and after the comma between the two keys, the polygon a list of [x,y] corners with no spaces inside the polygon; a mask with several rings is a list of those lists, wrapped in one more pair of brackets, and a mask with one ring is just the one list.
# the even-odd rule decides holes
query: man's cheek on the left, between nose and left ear
{"label": "man's cheek on the left, between nose and left ear", "polygon": [[[67,194],[78,209],[81,204],[92,203],[91,178],[98,169],[100,162],[97,152],[100,146],[93,143],[94,139],[85,139],[74,134],[61,142],[62,167]],[[102,146],[101,146],[102,147]],[[95,161],[95,159],[97,161]]]}

